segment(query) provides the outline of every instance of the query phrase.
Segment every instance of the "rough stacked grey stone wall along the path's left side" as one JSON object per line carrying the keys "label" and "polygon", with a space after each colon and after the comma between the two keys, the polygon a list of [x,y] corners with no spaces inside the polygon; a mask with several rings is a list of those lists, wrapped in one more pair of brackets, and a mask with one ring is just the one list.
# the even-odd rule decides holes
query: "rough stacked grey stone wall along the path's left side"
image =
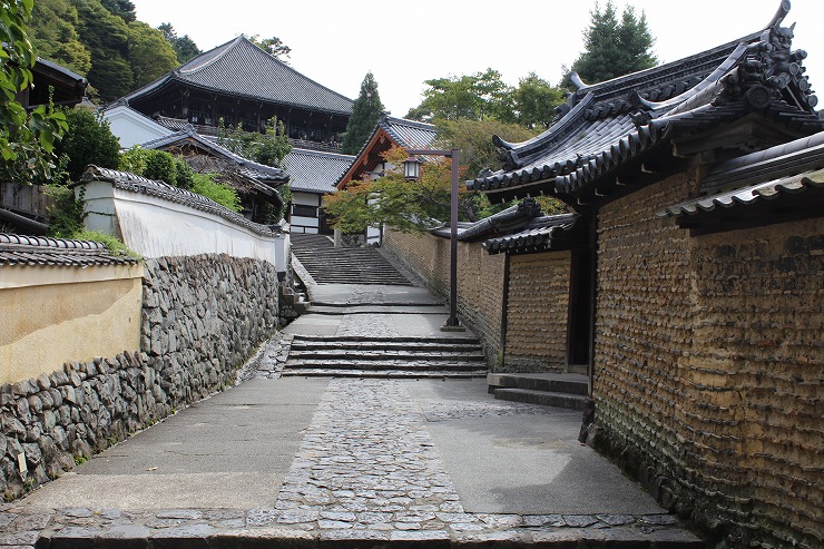
{"label": "rough stacked grey stone wall along the path's left side", "polygon": [[7,499],[233,384],[237,369],[276,327],[277,275],[266,262],[227,255],[148,259],[143,291],[139,351],[66,363],[50,375],[0,388],[0,486]]}

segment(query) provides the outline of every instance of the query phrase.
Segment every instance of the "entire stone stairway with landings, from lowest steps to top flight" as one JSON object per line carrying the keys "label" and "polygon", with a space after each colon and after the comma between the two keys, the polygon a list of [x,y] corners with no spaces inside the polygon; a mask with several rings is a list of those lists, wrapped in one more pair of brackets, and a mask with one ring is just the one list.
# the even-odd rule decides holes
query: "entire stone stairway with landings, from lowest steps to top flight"
{"label": "entire stone stairway with landings, from lowest steps to top flight", "polygon": [[372,247],[334,247],[293,235],[296,273],[311,305],[287,329],[284,376],[483,378],[487,361],[468,332],[444,333],[447,308]]}

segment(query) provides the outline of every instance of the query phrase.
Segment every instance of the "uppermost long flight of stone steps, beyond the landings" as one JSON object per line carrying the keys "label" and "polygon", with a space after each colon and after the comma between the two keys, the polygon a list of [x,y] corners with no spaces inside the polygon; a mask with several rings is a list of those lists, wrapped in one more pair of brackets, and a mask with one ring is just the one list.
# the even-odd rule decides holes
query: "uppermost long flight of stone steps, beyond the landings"
{"label": "uppermost long flight of stone steps, beyond the landings", "polygon": [[386,284],[410,286],[381,253],[372,247],[334,247],[323,235],[292,235],[292,253],[318,284]]}

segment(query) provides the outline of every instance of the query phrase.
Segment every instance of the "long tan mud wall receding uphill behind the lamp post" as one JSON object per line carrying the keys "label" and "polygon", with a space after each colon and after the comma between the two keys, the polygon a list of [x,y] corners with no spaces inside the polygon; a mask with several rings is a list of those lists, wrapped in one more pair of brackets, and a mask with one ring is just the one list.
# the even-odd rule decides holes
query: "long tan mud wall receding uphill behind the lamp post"
{"label": "long tan mud wall receding uphill behind the lamp post", "polygon": [[[449,239],[385,231],[383,246],[435,295],[449,297]],[[458,315],[481,339],[493,366],[502,354],[504,267],[503,254],[489,255],[481,243],[458,244]]]}

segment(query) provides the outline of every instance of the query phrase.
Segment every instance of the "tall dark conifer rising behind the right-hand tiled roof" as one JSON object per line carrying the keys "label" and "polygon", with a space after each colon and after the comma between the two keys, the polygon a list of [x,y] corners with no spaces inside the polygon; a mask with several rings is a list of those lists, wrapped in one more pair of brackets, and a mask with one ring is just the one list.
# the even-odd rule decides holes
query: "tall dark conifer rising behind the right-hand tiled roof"
{"label": "tall dark conifer rising behind the right-hand tiled roof", "polygon": [[[581,80],[587,84],[602,82],[658,63],[651,51],[655,39],[649,32],[644,11],[637,16],[635,8],[627,6],[618,22],[618,13],[609,0],[604,11],[596,3],[590,14],[592,20],[583,31],[587,50],[571,67]],[[567,75],[562,85],[569,87],[570,84]]]}

